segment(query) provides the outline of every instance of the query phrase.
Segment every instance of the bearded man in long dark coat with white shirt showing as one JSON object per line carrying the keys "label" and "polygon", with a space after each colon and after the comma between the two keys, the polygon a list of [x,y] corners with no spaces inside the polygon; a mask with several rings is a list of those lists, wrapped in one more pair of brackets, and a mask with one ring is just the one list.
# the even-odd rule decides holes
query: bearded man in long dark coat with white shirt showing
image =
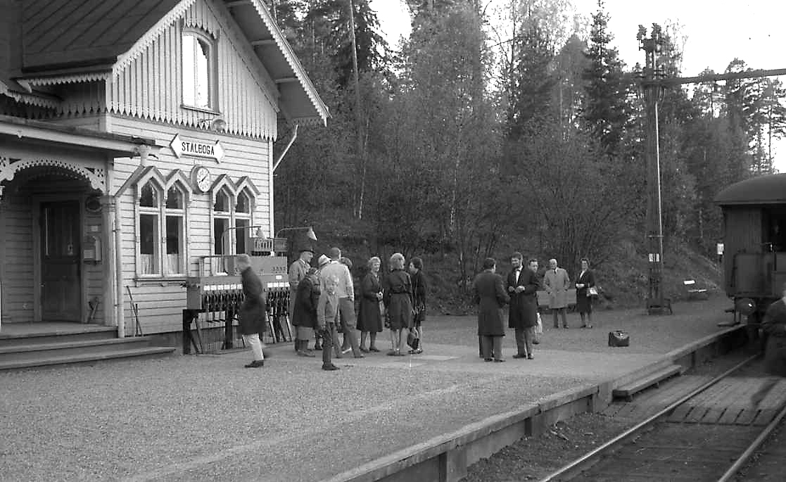
{"label": "bearded man in long dark coat with white shirt showing", "polygon": [[514,252],[510,257],[513,270],[506,285],[510,294],[508,327],[516,330],[516,359],[533,359],[532,342],[538,323],[538,260],[530,259],[523,267],[523,256]]}

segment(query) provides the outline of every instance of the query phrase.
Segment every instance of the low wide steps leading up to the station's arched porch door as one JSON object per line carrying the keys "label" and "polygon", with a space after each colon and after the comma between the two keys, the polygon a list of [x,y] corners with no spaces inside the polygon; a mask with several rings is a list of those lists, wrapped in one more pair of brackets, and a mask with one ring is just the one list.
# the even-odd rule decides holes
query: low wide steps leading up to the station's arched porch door
{"label": "low wide steps leading up to the station's arched porch door", "polygon": [[0,370],[63,365],[129,357],[169,355],[171,347],[152,346],[152,337],[116,338],[116,330],[0,336]]}

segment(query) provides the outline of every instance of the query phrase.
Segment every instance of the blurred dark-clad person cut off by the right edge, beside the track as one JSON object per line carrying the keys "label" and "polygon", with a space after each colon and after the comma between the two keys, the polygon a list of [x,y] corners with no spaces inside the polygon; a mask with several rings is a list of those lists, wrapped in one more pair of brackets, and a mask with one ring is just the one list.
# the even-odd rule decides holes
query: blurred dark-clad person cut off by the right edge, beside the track
{"label": "blurred dark-clad person cut off by the right edge, beside the track", "polygon": [[786,283],[780,289],[780,300],[770,304],[762,320],[762,329],[767,334],[764,351],[764,367],[772,375],[762,388],[751,396],[751,404],[758,407],[778,382],[778,377],[786,377]]}

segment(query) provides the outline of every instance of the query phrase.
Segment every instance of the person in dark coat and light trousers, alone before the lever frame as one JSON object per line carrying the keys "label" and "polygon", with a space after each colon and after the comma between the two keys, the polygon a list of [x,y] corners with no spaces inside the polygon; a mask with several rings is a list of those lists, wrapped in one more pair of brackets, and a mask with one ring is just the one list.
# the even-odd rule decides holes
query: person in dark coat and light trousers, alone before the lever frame
{"label": "person in dark coat and light trousers, alone before the lever frame", "polygon": [[267,309],[262,294],[262,280],[252,270],[251,258],[248,255],[237,256],[237,269],[241,272],[244,295],[237,318],[240,322],[243,341],[251,347],[254,354],[254,361],[245,367],[256,368],[265,365],[262,341],[259,340],[259,333],[265,333],[267,328]]}

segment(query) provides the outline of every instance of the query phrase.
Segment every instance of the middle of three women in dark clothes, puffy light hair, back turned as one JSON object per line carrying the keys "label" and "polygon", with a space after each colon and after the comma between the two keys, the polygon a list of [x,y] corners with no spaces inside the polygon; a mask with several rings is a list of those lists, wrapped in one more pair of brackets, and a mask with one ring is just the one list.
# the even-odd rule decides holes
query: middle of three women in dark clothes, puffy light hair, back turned
{"label": "middle of three women in dark clothes, puffy light hair, back turned", "polygon": [[412,327],[412,280],[404,270],[404,255],[391,256],[391,272],[382,283],[382,300],[391,326],[391,351],[387,355],[403,356],[402,329]]}

